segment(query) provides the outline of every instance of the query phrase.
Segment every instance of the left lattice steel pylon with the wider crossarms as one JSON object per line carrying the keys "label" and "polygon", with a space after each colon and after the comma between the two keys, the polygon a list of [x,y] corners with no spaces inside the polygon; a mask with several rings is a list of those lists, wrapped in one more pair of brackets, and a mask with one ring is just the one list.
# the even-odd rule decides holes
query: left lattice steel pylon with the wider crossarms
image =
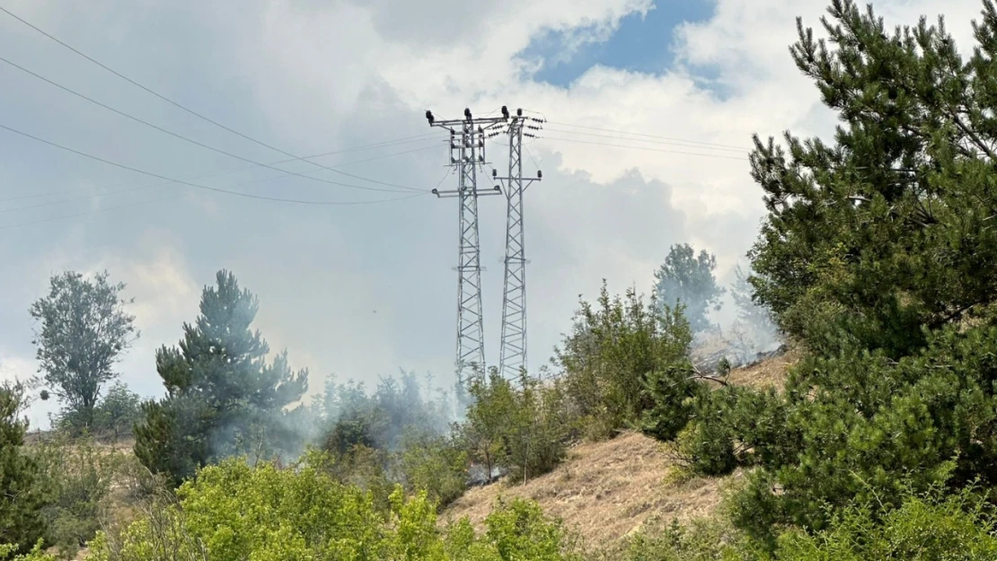
{"label": "left lattice steel pylon with the wider crossarms", "polygon": [[464,110],[460,121],[436,121],[431,112],[426,118],[432,127],[450,131],[451,165],[460,177],[458,189],[433,193],[441,198],[460,199],[458,225],[458,288],[457,288],[457,374],[464,380],[468,369],[485,368],[485,329],[482,313],[481,245],[478,231],[478,197],[498,194],[498,188],[478,189],[478,167],[485,163],[485,140],[498,135],[490,132],[506,119],[474,119],[471,110]]}

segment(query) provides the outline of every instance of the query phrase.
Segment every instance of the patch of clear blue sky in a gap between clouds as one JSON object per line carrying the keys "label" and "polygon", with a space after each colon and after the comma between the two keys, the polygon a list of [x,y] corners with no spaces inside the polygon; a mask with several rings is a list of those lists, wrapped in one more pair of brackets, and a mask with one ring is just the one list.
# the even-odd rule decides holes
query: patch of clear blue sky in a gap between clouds
{"label": "patch of clear blue sky in a gap between clouds", "polygon": [[533,37],[518,57],[542,61],[533,80],[561,87],[596,65],[660,74],[675,60],[672,48],[675,29],[684,22],[710,19],[714,9],[714,0],[655,0],[646,15],[634,13],[624,17],[605,41],[585,43],[574,53],[566,53],[571,48],[572,32],[548,30]]}

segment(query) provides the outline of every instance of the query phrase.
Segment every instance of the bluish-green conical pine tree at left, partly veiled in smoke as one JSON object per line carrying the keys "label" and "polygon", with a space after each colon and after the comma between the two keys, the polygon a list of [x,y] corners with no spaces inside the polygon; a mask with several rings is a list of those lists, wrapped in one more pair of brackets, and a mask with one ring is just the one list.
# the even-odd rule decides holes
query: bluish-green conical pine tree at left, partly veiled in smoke
{"label": "bluish-green conical pine tree at left, partly veiled in smoke", "polygon": [[154,472],[178,481],[227,455],[293,451],[285,409],[307,390],[308,373],[292,372],[286,352],[267,363],[269,346],[250,329],[257,310],[256,297],[219,271],[178,346],[157,352],[166,398],[146,404],[135,444]]}

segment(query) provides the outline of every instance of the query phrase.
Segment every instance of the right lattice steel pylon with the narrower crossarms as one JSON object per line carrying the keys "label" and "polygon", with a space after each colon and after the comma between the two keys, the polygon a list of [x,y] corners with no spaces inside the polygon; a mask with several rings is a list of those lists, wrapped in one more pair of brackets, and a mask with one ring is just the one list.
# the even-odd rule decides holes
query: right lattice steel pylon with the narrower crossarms
{"label": "right lattice steel pylon with the narrower crossarms", "polygon": [[[506,379],[519,377],[526,368],[526,250],[522,225],[522,193],[536,177],[522,177],[523,128],[538,130],[526,125],[522,110],[516,111],[508,125],[508,176],[500,177],[505,183],[508,201],[505,218],[505,275],[502,292],[501,351],[498,370]],[[532,120],[539,121],[539,120]]]}

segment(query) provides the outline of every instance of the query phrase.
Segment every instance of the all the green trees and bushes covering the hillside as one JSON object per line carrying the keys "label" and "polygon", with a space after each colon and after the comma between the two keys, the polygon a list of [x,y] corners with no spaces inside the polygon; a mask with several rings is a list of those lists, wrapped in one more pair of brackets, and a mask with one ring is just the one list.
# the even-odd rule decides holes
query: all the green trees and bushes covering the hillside
{"label": "all the green trees and bushes covering the hillside", "polygon": [[[542,372],[332,383],[304,405],[308,373],[270,352],[255,296],[221,271],[157,354],[166,396],[137,407],[102,394],[139,335],[124,286],[66,273],[31,308],[44,390],[0,391],[0,543],[25,560],[84,543],[115,561],[997,558],[997,7],[968,59],[941,20],[887,29],[833,0],[822,25],[818,40],[800,22],[791,55],[840,122],[832,140],[755,139],[768,212],[729,287],[737,336],[710,321],[715,259],[680,244],[648,297],[583,299]],[[65,321],[74,306],[107,319],[100,336]],[[731,360],[707,370],[692,354],[711,335]],[[777,335],[802,356],[785,386],[732,384],[732,361]],[[24,444],[20,412],[49,393],[83,443]],[[86,435],[123,423],[135,453],[105,466]],[[480,534],[437,519],[473,469],[515,484],[625,429],[662,440],[677,476],[744,476],[714,518],[610,547],[526,501]],[[100,524],[115,477],[137,506]]]}

